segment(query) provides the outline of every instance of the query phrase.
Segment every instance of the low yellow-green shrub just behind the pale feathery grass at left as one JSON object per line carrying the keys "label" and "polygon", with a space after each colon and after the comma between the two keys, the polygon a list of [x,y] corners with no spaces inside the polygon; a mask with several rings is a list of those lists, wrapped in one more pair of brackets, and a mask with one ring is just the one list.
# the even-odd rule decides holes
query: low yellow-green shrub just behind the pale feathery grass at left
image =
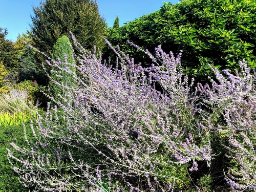
{"label": "low yellow-green shrub just behind the pale feathery grass at left", "polygon": [[14,89],[27,91],[28,100],[33,104],[45,103],[47,101],[46,96],[41,91],[46,92],[46,87],[40,86],[36,81],[26,80],[13,85]]}

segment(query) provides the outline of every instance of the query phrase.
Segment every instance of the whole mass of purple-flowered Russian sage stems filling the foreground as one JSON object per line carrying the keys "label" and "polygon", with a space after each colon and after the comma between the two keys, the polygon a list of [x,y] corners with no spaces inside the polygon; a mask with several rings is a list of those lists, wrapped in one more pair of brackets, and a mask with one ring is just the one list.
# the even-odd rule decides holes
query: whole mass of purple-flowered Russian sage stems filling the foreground
{"label": "whole mass of purple-flowered Russian sage stems filling the foreground", "polygon": [[75,85],[53,81],[66,94],[25,127],[27,148],[8,149],[20,182],[43,191],[210,190],[218,168],[233,190],[256,188],[255,75],[244,62],[240,74],[214,70],[218,81],[195,86],[183,75],[181,53],[144,51],[153,63],[142,68],[109,45],[113,69],[72,38],[78,74],[47,63],[72,74]]}

